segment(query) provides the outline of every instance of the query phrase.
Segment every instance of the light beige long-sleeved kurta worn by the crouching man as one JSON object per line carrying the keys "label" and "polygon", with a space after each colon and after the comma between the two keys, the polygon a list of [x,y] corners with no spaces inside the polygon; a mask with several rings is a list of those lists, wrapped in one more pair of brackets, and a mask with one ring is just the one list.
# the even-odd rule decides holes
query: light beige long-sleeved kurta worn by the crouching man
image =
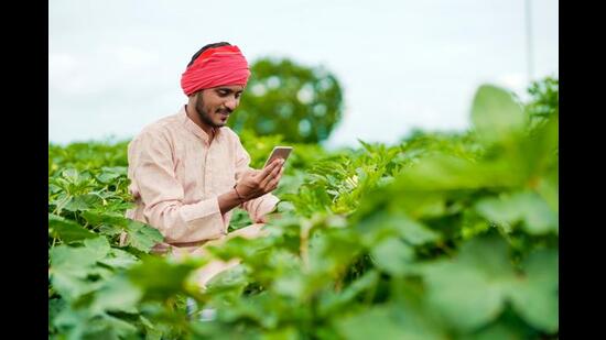
{"label": "light beige long-sleeved kurta worn by the crouching man", "polygon": [[[137,206],[127,217],[158,228],[165,243],[156,251],[227,234],[231,211],[221,215],[217,197],[250,169],[250,156],[227,127],[208,140],[182,107],[145,127],[128,146],[129,189]],[[267,194],[240,207],[257,221],[278,201]]]}

